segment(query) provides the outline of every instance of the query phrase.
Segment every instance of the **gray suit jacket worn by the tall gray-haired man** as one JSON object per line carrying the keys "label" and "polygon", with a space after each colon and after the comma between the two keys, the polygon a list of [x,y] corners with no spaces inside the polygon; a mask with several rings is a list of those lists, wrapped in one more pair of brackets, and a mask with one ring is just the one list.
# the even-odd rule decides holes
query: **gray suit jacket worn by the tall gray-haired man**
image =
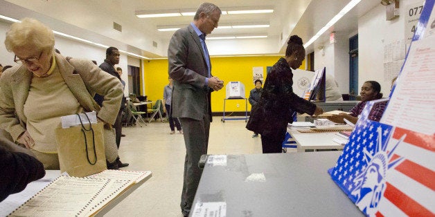
{"label": "gray suit jacket worn by the tall gray-haired man", "polygon": [[211,89],[206,86],[208,67],[201,41],[192,26],[177,30],[169,42],[169,76],[174,79],[172,117],[211,120]]}

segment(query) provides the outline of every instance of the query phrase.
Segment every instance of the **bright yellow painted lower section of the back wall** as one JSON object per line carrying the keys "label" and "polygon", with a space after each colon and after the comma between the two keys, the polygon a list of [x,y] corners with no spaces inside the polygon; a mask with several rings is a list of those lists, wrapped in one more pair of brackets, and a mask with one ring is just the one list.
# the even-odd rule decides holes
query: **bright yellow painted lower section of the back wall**
{"label": "bright yellow painted lower section of the back wall", "polygon": [[[280,57],[211,57],[212,75],[224,81],[222,90],[211,93],[211,111],[224,111],[225,86],[228,82],[245,84],[245,95],[249,97],[249,91],[254,88],[252,68],[262,66],[263,75],[266,77],[266,67],[273,66]],[[163,87],[168,84],[168,59],[144,60],[143,63],[145,95],[152,101],[163,99]],[[301,67],[305,69],[305,61]],[[231,111],[245,111],[245,100],[227,100],[225,113]],[[249,102],[248,111],[251,111]]]}

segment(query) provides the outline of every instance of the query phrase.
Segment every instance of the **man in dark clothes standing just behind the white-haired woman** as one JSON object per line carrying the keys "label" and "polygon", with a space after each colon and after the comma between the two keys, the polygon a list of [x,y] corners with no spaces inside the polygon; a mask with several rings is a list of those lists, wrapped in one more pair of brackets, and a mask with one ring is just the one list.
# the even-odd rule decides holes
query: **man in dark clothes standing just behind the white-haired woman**
{"label": "man in dark clothes standing just behind the white-haired woman", "polygon": [[[109,73],[110,75],[113,75],[114,77],[116,77],[118,79],[118,81],[121,83],[121,77],[119,76],[119,74],[116,72],[115,70],[115,64],[119,64],[119,50],[118,48],[115,47],[109,47],[106,49],[106,59],[104,60],[104,62],[102,64],[100,64],[100,68],[102,70],[104,70],[106,73]],[[124,95],[123,95],[124,97]],[[94,100],[100,105],[103,105],[103,100],[104,100],[105,96],[104,95],[99,95],[96,94],[94,95]],[[116,116],[116,121],[114,126],[115,129],[115,137],[116,137],[116,147],[118,147],[119,149],[119,145],[121,144],[121,135],[122,130],[123,130],[123,123],[122,123],[122,118],[123,118],[123,111],[125,109],[125,101],[123,102],[122,98],[121,98],[121,106],[119,107],[118,110],[118,116]],[[121,162],[121,160],[116,159],[116,162],[118,164],[118,167],[128,167],[128,163],[123,163]]]}

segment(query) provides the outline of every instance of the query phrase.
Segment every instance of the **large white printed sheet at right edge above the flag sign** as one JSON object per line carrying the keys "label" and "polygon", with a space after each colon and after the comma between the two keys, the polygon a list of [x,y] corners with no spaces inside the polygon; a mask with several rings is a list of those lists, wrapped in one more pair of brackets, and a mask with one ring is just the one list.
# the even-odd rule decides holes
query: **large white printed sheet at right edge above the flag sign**
{"label": "large white printed sheet at right edge above the flag sign", "polygon": [[381,122],[435,133],[435,37],[413,41],[405,66]]}

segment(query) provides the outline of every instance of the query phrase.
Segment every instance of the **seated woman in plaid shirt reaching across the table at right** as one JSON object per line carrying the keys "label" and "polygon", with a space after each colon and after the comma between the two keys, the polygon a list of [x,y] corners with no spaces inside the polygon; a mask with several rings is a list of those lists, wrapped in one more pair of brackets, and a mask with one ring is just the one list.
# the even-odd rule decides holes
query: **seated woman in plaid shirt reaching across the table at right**
{"label": "seated woman in plaid shirt reaching across the table at right", "polygon": [[[346,118],[346,120],[352,122],[353,124],[356,124],[358,121],[358,116],[361,115],[362,111],[364,110],[364,106],[366,106],[366,103],[372,100],[379,100],[380,98],[382,98],[382,93],[380,93],[380,90],[381,86],[378,82],[364,82],[361,87],[361,92],[359,92],[359,95],[361,95],[361,102],[359,102],[355,107],[350,109],[350,114],[339,113],[338,115],[332,115],[331,117],[328,117],[328,120],[339,124],[344,124],[344,118]],[[387,107],[387,101],[373,105],[371,113],[368,117],[369,120],[379,122],[382,114],[384,113],[385,107]]]}

